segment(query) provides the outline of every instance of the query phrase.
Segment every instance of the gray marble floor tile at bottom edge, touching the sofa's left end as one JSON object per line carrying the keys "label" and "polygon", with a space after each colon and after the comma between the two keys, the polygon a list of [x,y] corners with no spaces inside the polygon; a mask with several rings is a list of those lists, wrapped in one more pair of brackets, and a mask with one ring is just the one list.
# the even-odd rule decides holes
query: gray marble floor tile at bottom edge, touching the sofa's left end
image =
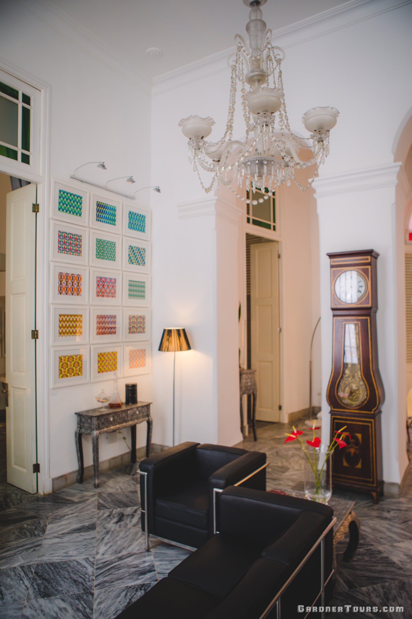
{"label": "gray marble floor tile at bottom edge, touching the sofa's left end", "polygon": [[93,619],[115,619],[122,610],[133,604],[154,584],[156,583],[144,582],[127,587],[96,589]]}

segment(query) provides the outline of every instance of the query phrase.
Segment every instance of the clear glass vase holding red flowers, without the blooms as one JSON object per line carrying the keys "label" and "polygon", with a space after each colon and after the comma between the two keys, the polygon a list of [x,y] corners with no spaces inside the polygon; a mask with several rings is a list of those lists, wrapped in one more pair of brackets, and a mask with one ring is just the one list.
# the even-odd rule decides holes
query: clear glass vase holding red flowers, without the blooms
{"label": "clear glass vase holding red flowers, without the blooms", "polygon": [[304,458],[305,495],[310,501],[327,503],[332,496],[332,457],[327,456],[329,445],[319,445],[317,448],[308,448],[311,462]]}

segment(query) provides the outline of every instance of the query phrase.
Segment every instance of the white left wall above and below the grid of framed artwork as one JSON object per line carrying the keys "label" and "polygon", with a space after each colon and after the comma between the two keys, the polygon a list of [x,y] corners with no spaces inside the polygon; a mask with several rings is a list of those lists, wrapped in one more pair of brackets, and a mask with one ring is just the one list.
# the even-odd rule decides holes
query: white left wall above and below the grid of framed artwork
{"label": "white left wall above and below the grid of framed artwork", "polygon": [[[69,180],[82,163],[104,160],[104,176],[96,176],[99,170],[94,166],[90,171],[84,168],[86,173],[95,175],[97,182],[101,178],[106,182],[133,174],[136,187],[148,185],[149,85],[138,85],[132,72],[125,77],[126,71],[121,73],[108,66],[103,51],[89,48],[86,52],[85,45],[75,45],[70,41],[74,33],[69,25],[56,20],[43,4],[33,2],[30,9],[24,2],[2,2],[0,58],[51,85],[50,178]],[[137,202],[148,204],[148,192],[141,193]],[[48,238],[48,228],[45,232]],[[40,333],[40,337],[45,336]],[[126,379],[119,380],[120,394],[125,382]],[[95,407],[95,396],[102,387],[111,392],[111,383],[90,383],[50,393],[49,477],[77,469],[74,413]],[[150,376],[141,376],[138,388],[140,399],[151,399]],[[138,426],[138,446],[145,443],[145,430],[143,425]],[[85,465],[89,465],[90,437],[85,437],[83,444]],[[103,436],[100,447],[101,460],[127,451],[121,438],[116,443],[106,443]]]}

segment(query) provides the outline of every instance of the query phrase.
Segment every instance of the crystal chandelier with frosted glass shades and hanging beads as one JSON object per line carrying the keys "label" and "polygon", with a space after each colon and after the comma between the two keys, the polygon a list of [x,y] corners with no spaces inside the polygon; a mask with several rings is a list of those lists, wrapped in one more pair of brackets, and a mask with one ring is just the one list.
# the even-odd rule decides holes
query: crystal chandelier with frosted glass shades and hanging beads
{"label": "crystal chandelier with frosted glass shades and hanging beads", "polygon": [[[210,116],[188,116],[179,123],[183,135],[189,139],[189,162],[198,174],[204,191],[209,193],[215,183],[221,183],[246,203],[250,200],[240,195],[243,186],[246,189],[251,186],[253,191],[264,191],[265,188],[274,191],[281,183],[290,186],[292,179],[302,191],[309,189],[314,178],[302,186],[296,179],[295,170],[316,164],[313,177],[317,175],[319,165],[329,154],[329,131],[335,126],[339,114],[336,108],[312,108],[302,118],[305,128],[311,132],[310,137],[292,133],[280,68],[285,52],[272,45],[272,30],[266,30],[259,8],[266,1],[243,0],[246,6],[251,7],[246,24],[250,49],[243,37],[235,35],[236,51],[230,54],[227,61],[232,76],[224,136],[219,142],[206,141],[215,124]],[[240,82],[246,125],[244,141],[233,140],[237,81]],[[250,90],[246,85],[250,86]],[[301,149],[303,158],[300,158]],[[201,179],[200,168],[212,174],[208,186]],[[237,189],[232,184],[236,184]],[[268,197],[267,194],[265,197]]]}

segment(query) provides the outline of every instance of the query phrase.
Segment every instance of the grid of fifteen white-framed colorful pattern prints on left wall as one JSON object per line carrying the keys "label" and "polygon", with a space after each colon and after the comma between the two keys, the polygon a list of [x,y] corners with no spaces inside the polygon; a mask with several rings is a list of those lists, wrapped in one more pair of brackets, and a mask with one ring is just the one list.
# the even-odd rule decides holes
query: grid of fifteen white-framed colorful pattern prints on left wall
{"label": "grid of fifteen white-framed colorful pattern prints on left wall", "polygon": [[150,211],[104,194],[52,181],[53,388],[151,371]]}

